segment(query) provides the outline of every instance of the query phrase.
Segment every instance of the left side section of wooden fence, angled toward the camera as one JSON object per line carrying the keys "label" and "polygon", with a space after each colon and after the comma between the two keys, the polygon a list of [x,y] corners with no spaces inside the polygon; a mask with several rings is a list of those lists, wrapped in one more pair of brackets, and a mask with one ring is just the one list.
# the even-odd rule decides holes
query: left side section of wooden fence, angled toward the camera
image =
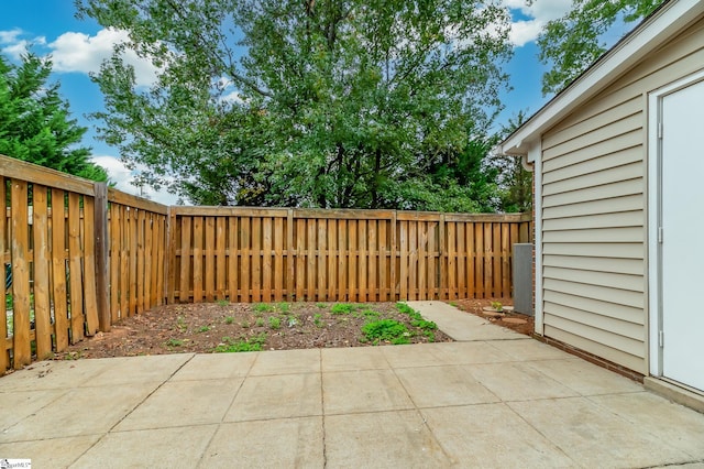
{"label": "left side section of wooden fence, angled toward the camera", "polygon": [[167,207],[1,155],[0,200],[0,374],[164,302]]}

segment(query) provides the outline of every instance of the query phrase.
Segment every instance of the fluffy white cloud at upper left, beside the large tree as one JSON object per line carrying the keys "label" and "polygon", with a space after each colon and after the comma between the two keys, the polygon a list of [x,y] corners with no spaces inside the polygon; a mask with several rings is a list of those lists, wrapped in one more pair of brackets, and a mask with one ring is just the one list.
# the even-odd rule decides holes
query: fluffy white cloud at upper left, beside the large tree
{"label": "fluffy white cloud at upper left, beside the large tree", "polygon": [[[113,47],[129,41],[127,31],[105,29],[95,36],[67,32],[48,44],[54,70],[97,73],[100,64],[112,55]],[[124,52],[124,62],[134,67],[138,86],[150,86],[156,80],[158,69],[151,62],[140,58],[134,51]]]}

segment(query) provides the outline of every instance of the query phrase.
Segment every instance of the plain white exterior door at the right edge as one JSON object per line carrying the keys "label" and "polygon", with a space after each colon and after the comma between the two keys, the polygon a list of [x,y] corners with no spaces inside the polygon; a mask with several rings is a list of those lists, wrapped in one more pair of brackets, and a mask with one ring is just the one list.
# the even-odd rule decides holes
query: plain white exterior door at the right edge
{"label": "plain white exterior door at the right edge", "polygon": [[704,391],[704,81],[660,106],[662,375]]}

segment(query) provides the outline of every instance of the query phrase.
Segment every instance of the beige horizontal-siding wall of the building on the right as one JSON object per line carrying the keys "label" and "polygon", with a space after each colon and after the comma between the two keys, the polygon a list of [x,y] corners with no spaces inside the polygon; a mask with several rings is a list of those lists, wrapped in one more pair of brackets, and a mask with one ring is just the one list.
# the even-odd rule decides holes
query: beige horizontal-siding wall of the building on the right
{"label": "beige horizontal-siding wall of the building on the right", "polygon": [[647,98],[702,68],[700,18],[542,135],[543,334],[644,374]]}

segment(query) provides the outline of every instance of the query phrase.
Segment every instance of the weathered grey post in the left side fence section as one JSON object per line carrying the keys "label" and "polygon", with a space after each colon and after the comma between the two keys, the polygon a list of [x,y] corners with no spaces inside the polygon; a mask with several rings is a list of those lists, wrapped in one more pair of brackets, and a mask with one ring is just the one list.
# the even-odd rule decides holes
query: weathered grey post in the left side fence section
{"label": "weathered grey post in the left side fence section", "polygon": [[110,330],[110,279],[108,276],[108,183],[95,183],[96,293],[98,329]]}

